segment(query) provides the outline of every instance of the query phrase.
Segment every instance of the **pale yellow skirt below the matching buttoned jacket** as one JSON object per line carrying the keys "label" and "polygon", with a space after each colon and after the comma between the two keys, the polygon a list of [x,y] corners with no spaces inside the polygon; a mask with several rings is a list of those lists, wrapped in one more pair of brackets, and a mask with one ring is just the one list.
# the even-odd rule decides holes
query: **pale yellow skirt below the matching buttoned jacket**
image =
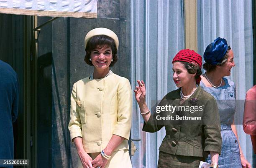
{"label": "pale yellow skirt below the matching buttoned jacket", "polygon": [[[100,153],[88,153],[94,160]],[[79,168],[83,168],[81,161]],[[129,150],[114,151],[105,168],[132,168]]]}

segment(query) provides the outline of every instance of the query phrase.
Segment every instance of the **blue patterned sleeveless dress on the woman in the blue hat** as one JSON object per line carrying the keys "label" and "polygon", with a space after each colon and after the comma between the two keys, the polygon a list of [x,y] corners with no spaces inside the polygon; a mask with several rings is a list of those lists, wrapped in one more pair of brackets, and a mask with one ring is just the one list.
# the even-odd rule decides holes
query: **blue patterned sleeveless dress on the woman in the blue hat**
{"label": "blue patterned sleeveless dress on the woman in the blue hat", "polygon": [[[216,99],[219,108],[222,137],[219,168],[242,168],[238,140],[231,129],[236,112],[236,86],[232,80],[223,80],[225,85],[219,88],[206,87],[202,80],[200,86]],[[206,161],[211,162],[210,155]]]}

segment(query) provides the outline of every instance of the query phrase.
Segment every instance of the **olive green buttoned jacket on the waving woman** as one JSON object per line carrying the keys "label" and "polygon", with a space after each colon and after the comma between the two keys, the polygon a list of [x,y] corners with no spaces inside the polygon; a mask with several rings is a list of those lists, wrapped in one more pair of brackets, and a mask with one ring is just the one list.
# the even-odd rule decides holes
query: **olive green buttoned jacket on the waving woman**
{"label": "olive green buttoned jacket on the waving woman", "polygon": [[[143,125],[143,131],[154,133],[165,127],[166,136],[164,137],[160,151],[173,155],[207,157],[209,151],[220,154],[221,134],[220,117],[216,100],[198,86],[195,93],[180,105],[180,88],[168,93],[161,100],[158,106],[201,106],[201,111],[194,113],[175,110],[172,112],[161,111],[151,115],[147,123]],[[158,111],[159,112],[159,111]],[[168,113],[166,113],[168,112]],[[198,120],[158,120],[161,116],[179,117],[201,117]],[[158,119],[157,119],[158,118]]]}

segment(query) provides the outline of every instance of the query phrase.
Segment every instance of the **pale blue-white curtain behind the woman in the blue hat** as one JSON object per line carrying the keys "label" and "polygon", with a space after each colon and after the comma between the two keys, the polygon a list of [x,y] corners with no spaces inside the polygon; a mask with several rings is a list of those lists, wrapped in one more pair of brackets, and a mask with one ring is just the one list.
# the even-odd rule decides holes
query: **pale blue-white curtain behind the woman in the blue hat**
{"label": "pale blue-white curtain behind the woman in the blue hat", "polygon": [[[253,86],[253,32],[251,0],[197,0],[198,53],[215,38],[225,38],[233,50],[236,66],[230,78],[236,84],[240,106],[235,122],[243,153],[252,164],[253,151],[249,135],[243,132],[241,120],[246,91]],[[241,105],[242,104],[242,105]]]}

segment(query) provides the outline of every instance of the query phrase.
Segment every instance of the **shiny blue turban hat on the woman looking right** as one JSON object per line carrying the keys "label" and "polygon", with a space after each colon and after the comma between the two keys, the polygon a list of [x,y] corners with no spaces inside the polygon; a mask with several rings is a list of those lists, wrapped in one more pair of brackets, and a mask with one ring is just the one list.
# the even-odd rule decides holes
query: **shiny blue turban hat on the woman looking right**
{"label": "shiny blue turban hat on the woman looking right", "polygon": [[206,63],[216,65],[224,57],[228,50],[227,40],[224,38],[216,38],[214,42],[210,43],[205,49],[204,60]]}

